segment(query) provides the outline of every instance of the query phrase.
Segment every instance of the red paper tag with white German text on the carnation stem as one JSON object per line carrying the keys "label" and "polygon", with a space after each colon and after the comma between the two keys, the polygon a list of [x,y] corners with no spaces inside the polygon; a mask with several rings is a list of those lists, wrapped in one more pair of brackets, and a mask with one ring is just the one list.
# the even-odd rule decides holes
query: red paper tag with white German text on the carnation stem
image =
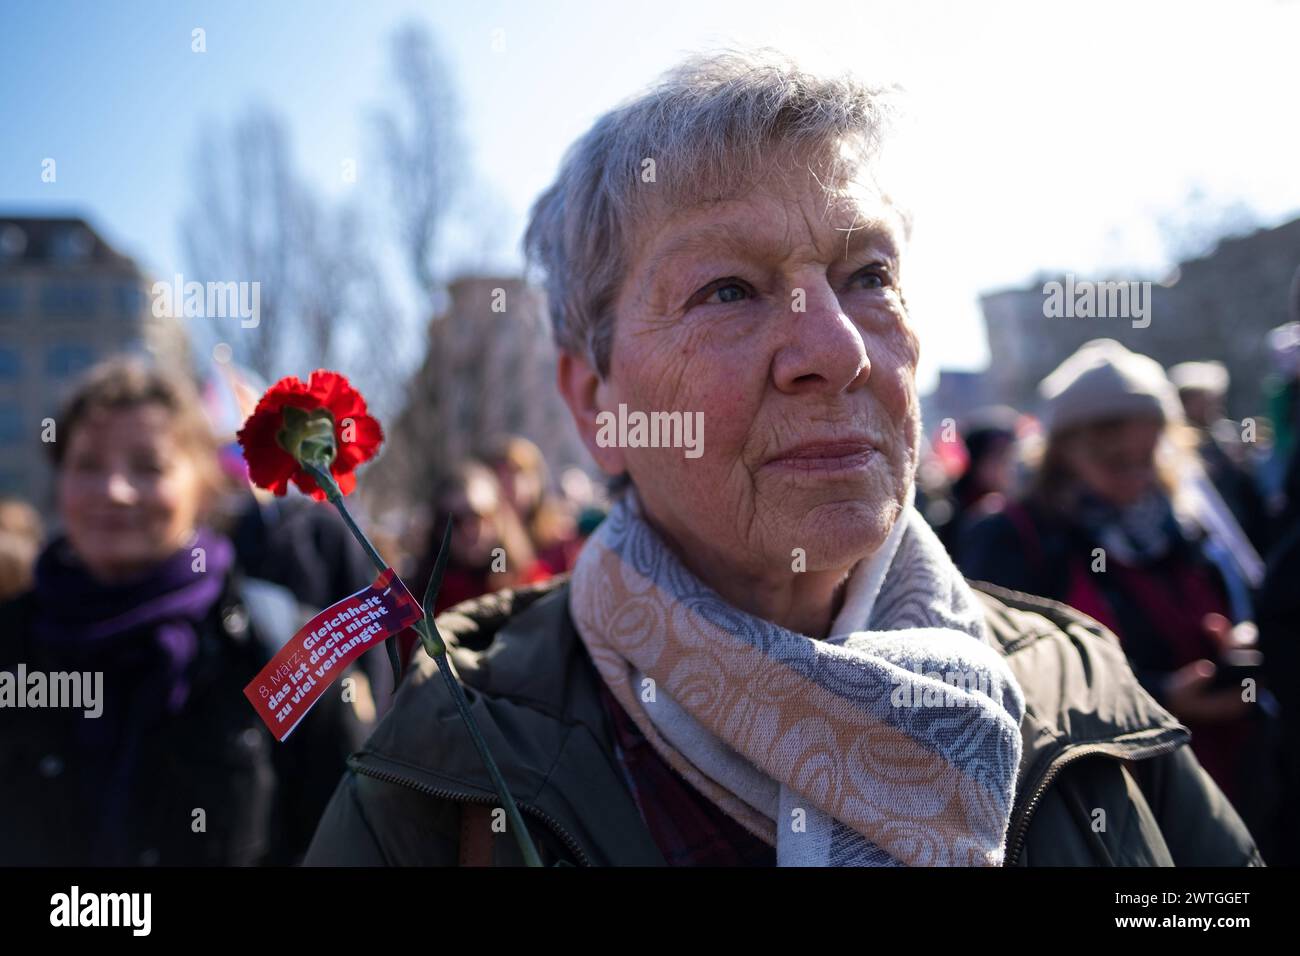
{"label": "red paper tag with white German text on the carnation stem", "polygon": [[424,617],[387,568],[374,584],[312,618],[244,688],[277,740],[285,740],[347,666]]}

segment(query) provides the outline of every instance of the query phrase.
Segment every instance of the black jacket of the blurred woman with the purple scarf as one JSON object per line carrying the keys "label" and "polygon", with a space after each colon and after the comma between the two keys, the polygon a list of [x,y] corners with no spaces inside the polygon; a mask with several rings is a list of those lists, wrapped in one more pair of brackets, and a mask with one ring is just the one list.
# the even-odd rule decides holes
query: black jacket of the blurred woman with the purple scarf
{"label": "black jacket of the blurred woman with the purple scarf", "polygon": [[[29,674],[66,670],[36,650],[31,614],[30,594],[0,605],[0,670],[20,662]],[[0,865],[296,862],[367,730],[358,708],[330,688],[280,744],[244,697],[302,618],[283,589],[226,579],[199,627],[183,710],[142,740],[121,856],[91,851],[99,797],[84,795],[100,787],[72,745],[82,711],[0,709]]]}

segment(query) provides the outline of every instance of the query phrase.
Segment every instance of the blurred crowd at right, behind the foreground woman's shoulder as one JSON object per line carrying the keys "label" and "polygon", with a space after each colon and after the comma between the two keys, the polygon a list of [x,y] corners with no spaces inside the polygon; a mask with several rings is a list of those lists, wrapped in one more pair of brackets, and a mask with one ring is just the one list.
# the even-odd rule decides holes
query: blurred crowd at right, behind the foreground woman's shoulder
{"label": "blurred crowd at right, behind the foreground woman's shoulder", "polygon": [[[1167,372],[1112,339],[1040,385],[1039,416],[982,408],[931,445],[924,509],[971,580],[1115,633],[1143,687],[1266,860],[1297,862],[1300,325],[1270,339],[1269,416],[1230,420],[1218,362]],[[1271,427],[1271,441],[1266,429]]]}

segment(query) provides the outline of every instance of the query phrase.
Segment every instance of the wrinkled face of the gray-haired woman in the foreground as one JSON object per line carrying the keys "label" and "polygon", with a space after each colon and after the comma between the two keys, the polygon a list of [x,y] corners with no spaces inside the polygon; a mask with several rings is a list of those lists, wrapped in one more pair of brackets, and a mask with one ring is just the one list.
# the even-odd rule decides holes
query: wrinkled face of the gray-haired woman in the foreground
{"label": "wrinkled face of the gray-haired woman in the foreground", "polygon": [[597,458],[688,563],[846,570],[888,535],[918,442],[901,243],[874,189],[831,199],[806,170],[644,230],[598,402],[693,415],[702,442]]}

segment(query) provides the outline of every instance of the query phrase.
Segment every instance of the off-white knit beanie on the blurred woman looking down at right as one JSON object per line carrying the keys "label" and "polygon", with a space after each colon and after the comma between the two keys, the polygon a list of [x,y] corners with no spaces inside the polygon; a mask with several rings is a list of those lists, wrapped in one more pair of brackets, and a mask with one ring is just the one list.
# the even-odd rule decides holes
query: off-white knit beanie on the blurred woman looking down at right
{"label": "off-white knit beanie on the blurred woman looking down at right", "polygon": [[1182,421],[1178,392],[1160,363],[1113,338],[1079,347],[1039,385],[1048,432],[1119,418]]}

